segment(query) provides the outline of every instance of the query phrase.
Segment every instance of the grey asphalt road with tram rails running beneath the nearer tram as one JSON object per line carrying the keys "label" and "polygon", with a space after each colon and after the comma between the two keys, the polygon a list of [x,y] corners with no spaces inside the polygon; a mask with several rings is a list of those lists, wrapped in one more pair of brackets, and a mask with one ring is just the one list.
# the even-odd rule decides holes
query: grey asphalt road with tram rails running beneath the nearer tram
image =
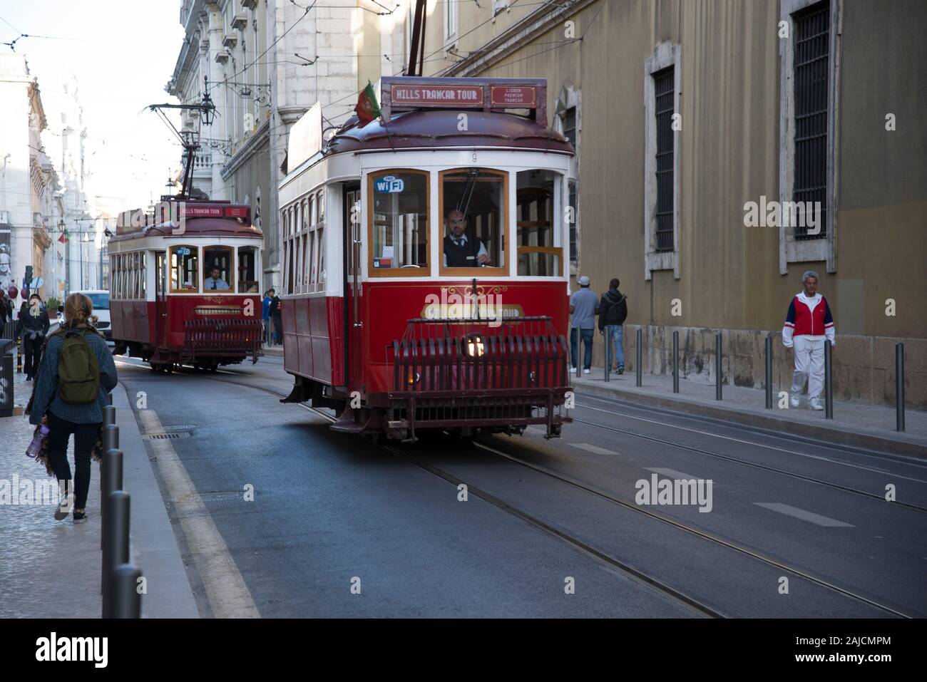
{"label": "grey asphalt road with tram rails running beneath the nearer tram", "polygon": [[[384,447],[280,404],[279,359],[119,369],[183,436],[149,448],[196,490],[169,511],[203,615],[927,615],[927,461],[582,394],[560,439]],[[638,504],[654,475],[711,496]]]}

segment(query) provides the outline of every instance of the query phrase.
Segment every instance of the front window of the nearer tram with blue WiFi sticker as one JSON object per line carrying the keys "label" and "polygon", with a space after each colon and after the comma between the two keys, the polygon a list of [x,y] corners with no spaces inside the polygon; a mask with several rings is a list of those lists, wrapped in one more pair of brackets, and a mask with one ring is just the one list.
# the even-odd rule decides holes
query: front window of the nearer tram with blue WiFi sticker
{"label": "front window of the nearer tram with blue WiFi sticker", "polygon": [[372,173],[368,191],[372,268],[427,268],[428,174]]}

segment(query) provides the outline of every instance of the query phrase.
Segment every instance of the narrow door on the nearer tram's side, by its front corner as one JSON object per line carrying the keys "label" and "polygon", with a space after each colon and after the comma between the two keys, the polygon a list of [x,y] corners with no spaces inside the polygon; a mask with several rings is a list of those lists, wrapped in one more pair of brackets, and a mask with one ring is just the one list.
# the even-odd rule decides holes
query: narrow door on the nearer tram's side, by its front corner
{"label": "narrow door on the nearer tram's side, by its front corner", "polygon": [[361,313],[361,185],[344,185],[345,253],[345,385],[359,385],[363,377],[363,321]]}

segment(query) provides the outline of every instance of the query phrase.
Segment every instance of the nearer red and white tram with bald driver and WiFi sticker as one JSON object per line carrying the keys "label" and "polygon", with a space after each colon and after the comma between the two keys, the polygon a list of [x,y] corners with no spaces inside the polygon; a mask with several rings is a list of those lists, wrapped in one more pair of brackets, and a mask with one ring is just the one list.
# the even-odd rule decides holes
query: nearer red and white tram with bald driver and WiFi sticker
{"label": "nearer red and white tram with bald driver and WiFi sticker", "polygon": [[574,152],[547,127],[546,81],[385,77],[381,92],[380,120],[323,145],[313,107],[290,135],[284,402],[404,441],[559,436]]}

